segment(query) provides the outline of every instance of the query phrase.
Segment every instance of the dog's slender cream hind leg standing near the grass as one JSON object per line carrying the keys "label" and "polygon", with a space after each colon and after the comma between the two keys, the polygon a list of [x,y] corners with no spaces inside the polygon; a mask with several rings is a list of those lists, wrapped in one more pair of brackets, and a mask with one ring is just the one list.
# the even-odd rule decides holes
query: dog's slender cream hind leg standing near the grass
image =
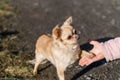
{"label": "dog's slender cream hind leg standing near the grass", "polygon": [[35,62],[34,70],[33,70],[33,75],[37,74],[38,66],[43,60],[45,60],[44,56],[41,55],[40,53],[36,53],[36,62]]}

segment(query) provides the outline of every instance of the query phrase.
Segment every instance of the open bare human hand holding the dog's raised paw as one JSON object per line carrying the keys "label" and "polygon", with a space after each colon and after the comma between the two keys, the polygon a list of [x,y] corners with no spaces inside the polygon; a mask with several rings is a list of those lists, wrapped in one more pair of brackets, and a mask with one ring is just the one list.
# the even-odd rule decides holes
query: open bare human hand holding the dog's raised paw
{"label": "open bare human hand holding the dog's raised paw", "polygon": [[94,46],[93,49],[90,50],[90,53],[93,53],[95,56],[92,58],[83,56],[79,60],[79,65],[81,65],[81,66],[88,66],[91,63],[99,61],[104,58],[100,43],[97,41],[90,41],[90,44]]}

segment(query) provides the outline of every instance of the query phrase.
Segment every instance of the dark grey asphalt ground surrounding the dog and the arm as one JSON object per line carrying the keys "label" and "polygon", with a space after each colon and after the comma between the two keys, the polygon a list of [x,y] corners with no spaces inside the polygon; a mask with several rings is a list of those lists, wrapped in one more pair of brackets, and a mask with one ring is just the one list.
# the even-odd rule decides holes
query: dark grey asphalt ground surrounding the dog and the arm
{"label": "dark grey asphalt ground surrounding the dog and the arm", "polygon": [[[120,36],[120,0],[11,0],[17,9],[20,44],[34,52],[37,38],[52,32],[69,16],[81,32],[81,49],[89,50],[88,39],[106,41]],[[101,61],[87,68],[77,63],[65,72],[66,80],[119,80],[120,61]],[[57,80],[55,68],[48,67],[37,76],[42,80]],[[34,79],[34,78],[33,78]],[[39,78],[36,78],[39,80]]]}

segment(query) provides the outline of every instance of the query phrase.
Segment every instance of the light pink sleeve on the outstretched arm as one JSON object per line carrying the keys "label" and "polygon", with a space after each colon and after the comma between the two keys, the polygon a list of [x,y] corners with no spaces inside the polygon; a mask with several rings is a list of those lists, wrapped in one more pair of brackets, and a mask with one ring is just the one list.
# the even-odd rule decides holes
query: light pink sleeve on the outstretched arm
{"label": "light pink sleeve on the outstretched arm", "polygon": [[101,43],[107,61],[120,58],[120,37]]}

